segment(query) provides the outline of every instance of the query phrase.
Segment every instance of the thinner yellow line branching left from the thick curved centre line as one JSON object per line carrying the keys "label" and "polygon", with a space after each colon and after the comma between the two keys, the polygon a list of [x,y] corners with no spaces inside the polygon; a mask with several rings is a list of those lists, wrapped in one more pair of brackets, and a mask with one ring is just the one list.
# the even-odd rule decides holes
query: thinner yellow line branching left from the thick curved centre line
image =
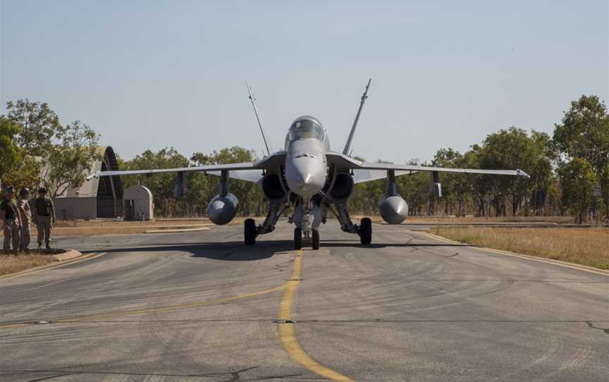
{"label": "thinner yellow line branching left from the thick curved centre line", "polygon": [[[151,314],[151,313],[159,313],[159,312],[173,312],[181,309],[192,309],[205,307],[208,305],[221,304],[223,302],[230,302],[235,300],[242,300],[249,297],[256,297],[259,295],[266,295],[267,293],[278,292],[279,290],[284,290],[286,288],[286,284],[280,285],[276,288],[260,290],[259,292],[246,293],[245,295],[236,295],[233,297],[224,297],[216,300],[208,300],[202,302],[192,302],[190,304],[179,304],[179,305],[171,305],[168,307],[158,307],[158,308],[150,308],[150,309],[137,309],[137,310],[128,310],[123,312],[112,312],[112,313],[102,313],[102,314],[92,314],[90,316],[73,316],[73,317],[63,317],[61,319],[49,319],[49,324],[73,324],[73,323],[81,323],[87,321],[96,321],[99,319],[109,319],[116,317],[124,317],[124,316],[138,316],[142,314]],[[0,324],[0,328],[12,328],[15,326],[26,326],[35,324],[37,321],[27,321],[27,322],[17,322],[13,324]]]}

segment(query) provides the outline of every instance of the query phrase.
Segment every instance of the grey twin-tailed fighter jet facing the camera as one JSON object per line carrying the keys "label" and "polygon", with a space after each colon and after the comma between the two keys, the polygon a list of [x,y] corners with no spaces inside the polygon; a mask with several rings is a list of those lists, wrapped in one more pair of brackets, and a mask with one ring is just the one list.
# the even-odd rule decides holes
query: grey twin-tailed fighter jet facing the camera
{"label": "grey twin-tailed fighter jet facing the camera", "polygon": [[268,204],[268,214],[262,223],[247,218],[244,222],[245,245],[255,245],[259,235],[275,230],[279,217],[290,207],[293,214],[288,221],[295,225],[294,248],[301,249],[303,238],[312,249],[319,249],[321,225],[326,223],[328,212],[338,218],[340,228],[346,233],[359,235],[362,245],[372,241],[371,219],[364,217],[354,223],[347,211],[347,200],[354,186],[370,180],[386,178],[386,192],[379,197],[379,212],[386,223],[400,224],[408,215],[408,205],[398,193],[395,177],[426,171],[430,173],[430,188],[440,197],[439,173],[476,173],[487,175],[516,175],[529,178],[522,170],[482,170],[474,168],[439,168],[407,164],[382,164],[358,161],[350,156],[350,147],[359,115],[367,99],[370,80],[359,104],[349,137],[343,152],[333,152],[326,129],[312,116],[300,116],[290,124],[285,135],[284,149],[271,154],[266,135],[260,123],[254,97],[248,86],[250,101],[266,145],[263,159],[253,163],[219,164],[185,168],[162,168],[136,171],[101,171],[87,179],[99,176],[177,173],[176,196],[183,190],[183,174],[198,171],[220,176],[219,194],[207,207],[209,220],[217,225],[229,223],[237,213],[238,200],[230,193],[229,179],[247,180],[259,184]]}

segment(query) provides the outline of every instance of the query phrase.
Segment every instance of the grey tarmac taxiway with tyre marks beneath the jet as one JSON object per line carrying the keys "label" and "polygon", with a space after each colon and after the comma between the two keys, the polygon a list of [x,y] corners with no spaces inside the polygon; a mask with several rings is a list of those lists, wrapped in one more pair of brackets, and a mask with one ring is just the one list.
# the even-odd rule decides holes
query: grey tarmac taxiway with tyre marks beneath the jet
{"label": "grey tarmac taxiway with tyre marks beneath the jet", "polygon": [[609,276],[322,228],[59,240],[92,255],[0,279],[0,381],[608,381]]}

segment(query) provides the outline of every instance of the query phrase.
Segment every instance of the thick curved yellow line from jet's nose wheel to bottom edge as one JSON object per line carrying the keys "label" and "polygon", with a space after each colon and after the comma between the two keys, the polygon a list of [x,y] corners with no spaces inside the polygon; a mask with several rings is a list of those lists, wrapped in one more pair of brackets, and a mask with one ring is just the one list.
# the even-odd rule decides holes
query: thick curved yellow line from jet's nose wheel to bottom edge
{"label": "thick curved yellow line from jet's nose wheel to bottom edge", "polygon": [[292,270],[292,280],[286,283],[283,299],[279,305],[278,331],[281,347],[283,347],[283,350],[285,350],[295,362],[305,366],[305,368],[313,371],[315,374],[319,374],[331,381],[353,382],[351,378],[343,376],[343,374],[338,373],[338,371],[329,369],[327,366],[312,359],[312,357],[302,349],[296,338],[292,308],[298,283],[300,283],[300,273],[302,273],[302,253],[302,249],[296,252],[294,268]]}

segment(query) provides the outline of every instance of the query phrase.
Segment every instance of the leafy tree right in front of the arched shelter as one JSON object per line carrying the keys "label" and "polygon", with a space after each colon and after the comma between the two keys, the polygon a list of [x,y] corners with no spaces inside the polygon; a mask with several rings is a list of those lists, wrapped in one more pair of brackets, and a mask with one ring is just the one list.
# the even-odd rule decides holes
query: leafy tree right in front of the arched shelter
{"label": "leafy tree right in front of the arched shelter", "polygon": [[56,139],[44,153],[47,164],[42,172],[42,182],[53,197],[62,195],[68,187],[80,188],[85,183],[85,170],[103,156],[97,148],[99,135],[80,121],[61,128]]}

